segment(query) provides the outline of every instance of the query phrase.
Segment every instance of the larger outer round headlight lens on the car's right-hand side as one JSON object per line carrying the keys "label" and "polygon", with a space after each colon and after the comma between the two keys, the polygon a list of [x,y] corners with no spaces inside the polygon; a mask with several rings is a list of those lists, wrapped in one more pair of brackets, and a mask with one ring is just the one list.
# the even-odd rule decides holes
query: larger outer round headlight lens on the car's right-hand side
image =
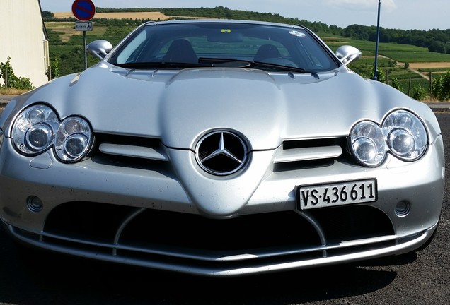
{"label": "larger outer round headlight lens on the car's right-hand side", "polygon": [[425,126],[410,112],[398,110],[389,114],[384,121],[383,130],[389,150],[401,160],[417,160],[427,149]]}

